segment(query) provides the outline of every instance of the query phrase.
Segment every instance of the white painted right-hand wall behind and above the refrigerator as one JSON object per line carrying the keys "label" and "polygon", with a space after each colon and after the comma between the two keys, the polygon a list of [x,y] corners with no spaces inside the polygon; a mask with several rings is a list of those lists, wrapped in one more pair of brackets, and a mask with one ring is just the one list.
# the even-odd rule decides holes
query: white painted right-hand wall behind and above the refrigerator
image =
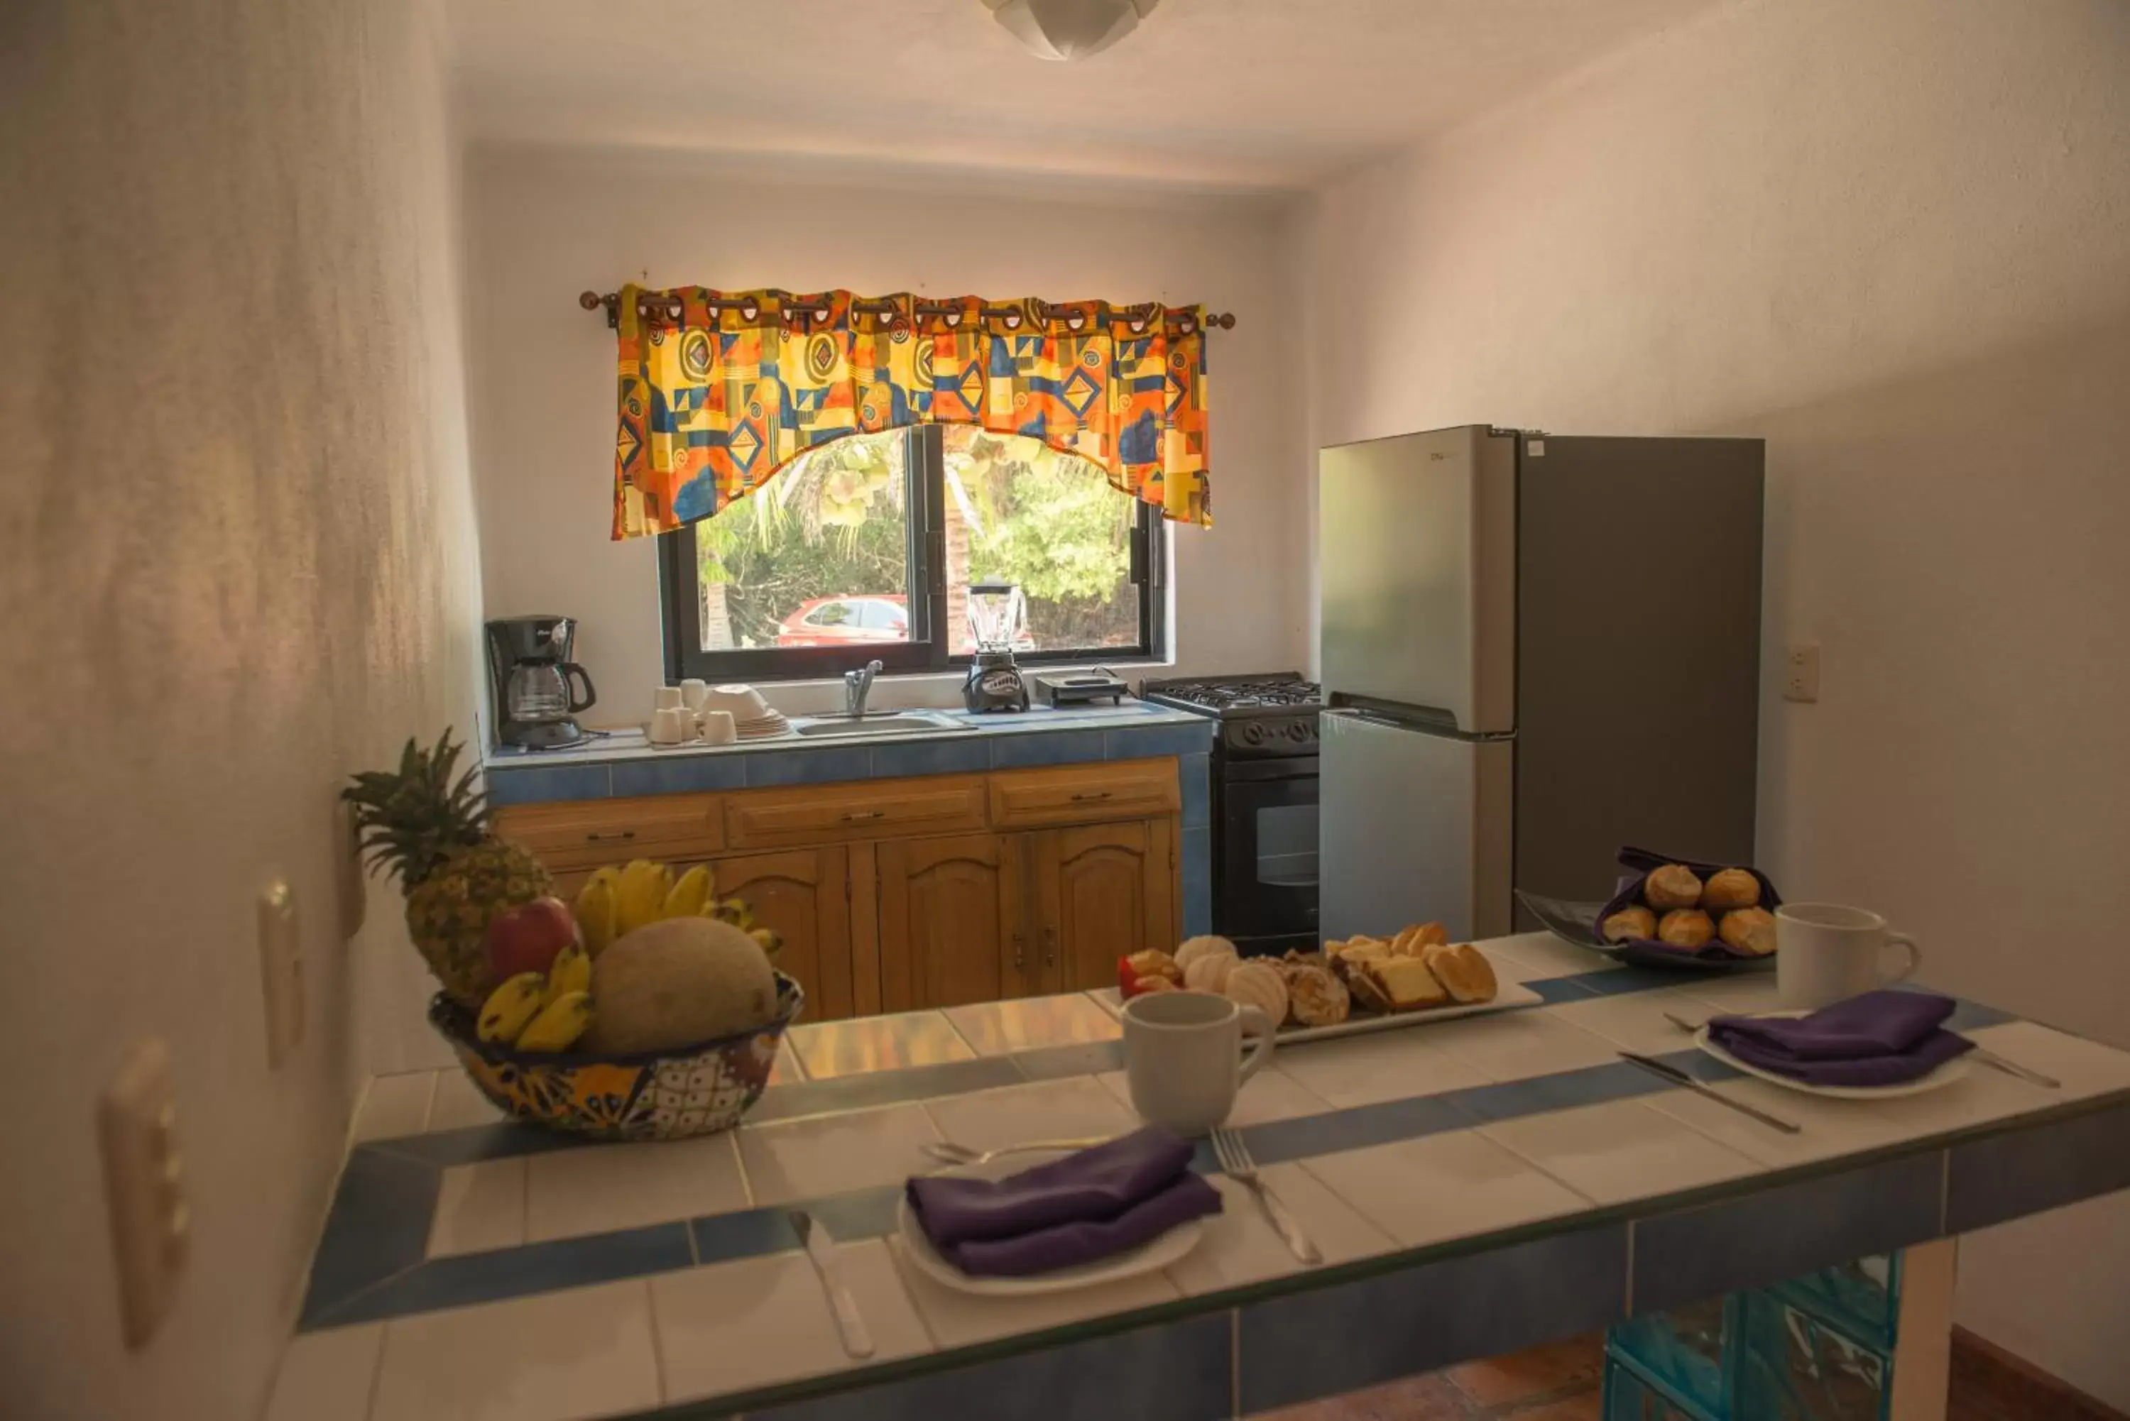
{"label": "white painted right-hand wall behind and above the refrigerator", "polygon": [[[2130,9],[1727,6],[1291,239],[1312,445],[1764,435],[1766,863],[2130,1046]],[[1819,705],[1772,695],[1789,637]],[[2130,1406],[2130,1199],[1968,1240],[1960,1304]]]}

